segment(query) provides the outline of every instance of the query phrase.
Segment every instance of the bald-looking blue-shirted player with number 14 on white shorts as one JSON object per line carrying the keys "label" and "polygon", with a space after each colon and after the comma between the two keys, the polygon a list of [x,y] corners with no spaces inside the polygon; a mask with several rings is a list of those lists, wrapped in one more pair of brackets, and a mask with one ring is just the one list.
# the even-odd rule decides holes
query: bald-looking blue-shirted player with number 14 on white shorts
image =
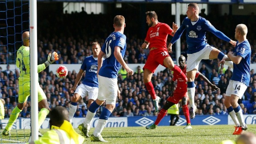
{"label": "bald-looking blue-shirted player with number 14 on white shorts", "polygon": [[226,97],[224,104],[227,107],[231,118],[236,124],[233,135],[240,135],[247,126],[244,122],[243,113],[238,100],[242,98],[245,90],[250,83],[250,59],[251,59],[251,47],[246,39],[248,29],[244,24],[239,24],[236,27],[235,38],[237,41],[234,48],[234,54],[228,52],[227,57],[223,58],[219,62],[219,66],[225,61],[233,61],[233,75],[230,78],[227,86]]}

